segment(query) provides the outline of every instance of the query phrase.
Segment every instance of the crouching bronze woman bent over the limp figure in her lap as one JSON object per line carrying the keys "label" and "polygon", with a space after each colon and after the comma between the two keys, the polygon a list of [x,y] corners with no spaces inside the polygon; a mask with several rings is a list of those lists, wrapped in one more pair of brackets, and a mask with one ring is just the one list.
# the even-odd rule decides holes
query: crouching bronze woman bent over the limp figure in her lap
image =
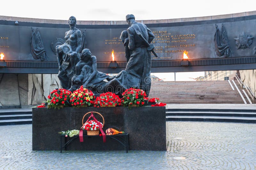
{"label": "crouching bronze woman bent over the limp figure in her lap", "polygon": [[72,78],[72,86],[69,91],[79,89],[81,85],[85,88],[97,92],[97,88],[106,82],[110,77],[97,71],[96,57],[92,56],[89,49],[84,49],[80,55],[80,61],[76,64],[76,75]]}

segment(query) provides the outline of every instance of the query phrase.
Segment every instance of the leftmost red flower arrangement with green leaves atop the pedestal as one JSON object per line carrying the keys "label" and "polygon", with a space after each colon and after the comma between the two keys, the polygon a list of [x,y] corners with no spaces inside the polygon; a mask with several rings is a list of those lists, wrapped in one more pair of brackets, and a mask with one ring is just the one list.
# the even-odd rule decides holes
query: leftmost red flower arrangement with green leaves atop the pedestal
{"label": "leftmost red flower arrangement with green leaves atop the pedestal", "polygon": [[51,94],[48,96],[47,100],[47,107],[54,108],[54,109],[60,109],[63,107],[69,106],[69,100],[70,100],[70,94],[71,92],[66,89],[55,89],[51,92]]}

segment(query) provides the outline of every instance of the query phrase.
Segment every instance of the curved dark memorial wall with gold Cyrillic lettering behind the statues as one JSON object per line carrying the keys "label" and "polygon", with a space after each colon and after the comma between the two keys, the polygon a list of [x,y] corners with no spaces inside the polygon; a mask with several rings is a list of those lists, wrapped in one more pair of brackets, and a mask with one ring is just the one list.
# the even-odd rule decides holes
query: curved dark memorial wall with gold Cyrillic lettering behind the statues
{"label": "curved dark memorial wall with gold Cyrillic lettering behind the statues", "polygon": [[[14,25],[15,21],[18,21],[19,24]],[[138,22],[146,24],[156,36],[152,43],[155,45],[155,52],[159,57],[156,58],[152,54],[152,72],[255,69],[256,11]],[[225,28],[228,46],[233,55],[224,56],[224,54],[216,53],[215,25],[219,26],[220,31],[222,25]],[[32,57],[30,50],[31,27],[38,28],[48,60],[40,61]],[[126,67],[124,46],[119,39],[121,32],[128,28],[125,21],[77,21],[77,28],[81,31],[86,29],[86,48],[89,48],[97,57],[97,66],[100,71],[119,73]],[[7,60],[7,67],[1,69],[1,72],[56,74],[58,64],[54,53],[55,49],[51,47],[51,44],[56,38],[64,39],[68,29],[67,20],[0,16],[0,37],[3,37],[0,40],[0,53],[4,52],[5,60]],[[243,40],[239,38],[240,35],[252,38],[248,48],[237,49],[239,46],[237,42]],[[117,68],[109,68],[112,49],[115,51]],[[188,51],[189,66],[191,67],[181,67],[182,53],[185,50]]]}

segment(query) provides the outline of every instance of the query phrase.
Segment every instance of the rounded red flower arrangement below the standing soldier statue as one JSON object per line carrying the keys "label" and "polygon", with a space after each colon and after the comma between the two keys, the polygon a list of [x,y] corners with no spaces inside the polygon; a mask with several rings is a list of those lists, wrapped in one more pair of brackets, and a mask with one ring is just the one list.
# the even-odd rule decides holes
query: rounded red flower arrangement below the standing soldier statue
{"label": "rounded red flower arrangement below the standing soldier statue", "polygon": [[132,107],[132,105],[136,106],[142,106],[144,105],[144,100],[146,98],[146,92],[141,89],[134,89],[130,88],[124,91],[122,94],[122,103],[124,106],[128,106],[129,108]]}

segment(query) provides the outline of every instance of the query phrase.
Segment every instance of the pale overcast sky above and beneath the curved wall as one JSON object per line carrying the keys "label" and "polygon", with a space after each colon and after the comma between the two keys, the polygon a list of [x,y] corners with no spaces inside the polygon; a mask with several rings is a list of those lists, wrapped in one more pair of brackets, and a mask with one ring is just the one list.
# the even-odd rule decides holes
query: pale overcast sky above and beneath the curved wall
{"label": "pale overcast sky above and beneath the curved wall", "polygon": [[[136,20],[172,19],[203,17],[239,12],[255,11],[256,1],[235,0],[2,0],[0,16],[61,19],[75,16],[77,20],[118,21],[125,20],[127,14],[134,14]],[[173,73],[154,73],[164,81],[174,81]],[[203,76],[204,72],[177,73],[178,81],[193,81],[189,77]]]}

